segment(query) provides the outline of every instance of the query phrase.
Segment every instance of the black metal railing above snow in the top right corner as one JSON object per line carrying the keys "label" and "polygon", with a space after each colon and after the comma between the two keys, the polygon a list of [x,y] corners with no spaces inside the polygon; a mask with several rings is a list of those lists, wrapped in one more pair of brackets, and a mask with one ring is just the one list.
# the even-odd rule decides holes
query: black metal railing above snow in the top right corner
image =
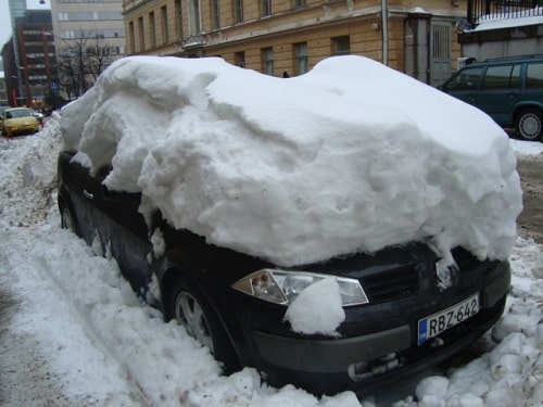
{"label": "black metal railing above snow in the top right corner", "polygon": [[543,15],[543,0],[468,0],[468,22],[475,27],[487,20]]}

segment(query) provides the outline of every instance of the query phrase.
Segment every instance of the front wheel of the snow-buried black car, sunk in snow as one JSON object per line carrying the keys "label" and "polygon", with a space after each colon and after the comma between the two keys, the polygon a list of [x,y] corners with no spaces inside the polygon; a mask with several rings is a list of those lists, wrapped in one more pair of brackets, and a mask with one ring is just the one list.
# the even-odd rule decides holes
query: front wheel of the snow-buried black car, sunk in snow
{"label": "front wheel of the snow-buried black car, sunk in snow", "polygon": [[172,317],[185,327],[190,336],[210,349],[223,371],[230,374],[239,370],[239,361],[228,334],[200,291],[180,277],[174,284],[171,298]]}

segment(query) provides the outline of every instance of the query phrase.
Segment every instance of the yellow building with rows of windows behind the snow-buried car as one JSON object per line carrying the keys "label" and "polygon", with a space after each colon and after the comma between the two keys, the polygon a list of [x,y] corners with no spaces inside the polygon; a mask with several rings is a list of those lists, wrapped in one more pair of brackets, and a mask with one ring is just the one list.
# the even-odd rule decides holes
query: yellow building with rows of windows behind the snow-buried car
{"label": "yellow building with rows of windows behind the snow-buried car", "polygon": [[124,0],[123,10],[129,54],[216,55],[275,76],[357,54],[439,85],[457,68],[466,0]]}

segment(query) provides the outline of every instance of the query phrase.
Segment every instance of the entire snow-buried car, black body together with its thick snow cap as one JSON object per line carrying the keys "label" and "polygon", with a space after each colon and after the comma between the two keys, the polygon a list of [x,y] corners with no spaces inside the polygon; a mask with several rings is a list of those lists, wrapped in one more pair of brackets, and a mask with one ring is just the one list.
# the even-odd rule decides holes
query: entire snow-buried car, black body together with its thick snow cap
{"label": "entire snow-buried car, black body together with its thick snow cap", "polygon": [[508,138],[381,64],[334,58],[283,79],[127,58],[60,126],[62,226],[227,373],[362,393],[503,313],[521,209]]}

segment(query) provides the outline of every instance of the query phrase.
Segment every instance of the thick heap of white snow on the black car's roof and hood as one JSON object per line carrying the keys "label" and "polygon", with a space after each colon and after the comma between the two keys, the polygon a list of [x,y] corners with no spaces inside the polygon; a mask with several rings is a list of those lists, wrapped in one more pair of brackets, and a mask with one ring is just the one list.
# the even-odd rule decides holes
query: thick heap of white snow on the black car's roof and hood
{"label": "thick heap of white snow on the black car's roof and hood", "polygon": [[505,258],[521,191],[485,114],[361,56],[276,78],[125,58],[62,111],[65,148],[210,243],[301,265],[430,238]]}

